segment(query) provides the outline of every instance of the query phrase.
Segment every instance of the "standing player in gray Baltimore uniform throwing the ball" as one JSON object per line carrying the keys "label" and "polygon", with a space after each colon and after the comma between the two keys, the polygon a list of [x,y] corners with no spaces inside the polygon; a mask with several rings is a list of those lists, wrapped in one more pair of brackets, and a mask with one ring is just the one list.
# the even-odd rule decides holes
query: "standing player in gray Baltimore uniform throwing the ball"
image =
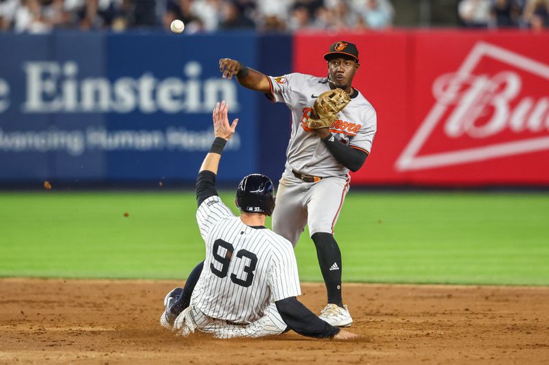
{"label": "standing player in gray Baltimore uniform throwing the ball", "polygon": [[[366,161],[377,118],[369,101],[352,86],[360,67],[356,46],[335,42],[324,58],[327,77],[301,73],[270,77],[228,58],[220,60],[220,71],[224,78],[236,76],[242,86],[263,92],[292,110],[292,134],[272,229],[295,245],[305,225],[309,226],[327,289],[328,304],[320,318],[347,327],[353,319],[342,301],[342,260],[334,228],[349,192],[349,170],[358,171]],[[312,108],[316,98],[335,88],[347,92],[351,101],[330,127],[310,129],[307,121],[316,116]]]}

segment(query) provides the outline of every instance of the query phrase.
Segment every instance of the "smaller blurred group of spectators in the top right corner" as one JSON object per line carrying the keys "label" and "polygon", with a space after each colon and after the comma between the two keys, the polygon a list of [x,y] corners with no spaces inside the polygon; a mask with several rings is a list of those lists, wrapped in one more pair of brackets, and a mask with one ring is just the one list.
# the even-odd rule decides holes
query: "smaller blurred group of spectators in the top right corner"
{"label": "smaller blurred group of spectators in the top right corner", "polygon": [[549,27],[549,0],[461,0],[458,14],[465,27],[539,30]]}

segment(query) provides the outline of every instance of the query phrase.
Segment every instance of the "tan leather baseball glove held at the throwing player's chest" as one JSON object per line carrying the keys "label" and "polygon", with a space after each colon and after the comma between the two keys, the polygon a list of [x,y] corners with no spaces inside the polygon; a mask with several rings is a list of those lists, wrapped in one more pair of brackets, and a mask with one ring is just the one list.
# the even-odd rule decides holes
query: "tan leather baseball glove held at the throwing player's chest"
{"label": "tan leather baseball glove held at the throwing player's chest", "polygon": [[351,98],[342,89],[329,90],[318,95],[313,108],[318,118],[311,116],[307,122],[310,129],[330,127],[338,117],[338,113],[349,104]]}

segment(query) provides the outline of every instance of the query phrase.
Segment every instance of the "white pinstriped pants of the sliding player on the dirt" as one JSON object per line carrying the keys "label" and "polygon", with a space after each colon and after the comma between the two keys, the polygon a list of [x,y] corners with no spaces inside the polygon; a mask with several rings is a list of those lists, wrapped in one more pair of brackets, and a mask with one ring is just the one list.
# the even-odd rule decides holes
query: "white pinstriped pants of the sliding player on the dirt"
{"label": "white pinstriped pants of the sliding player on the dirt", "polygon": [[211,333],[216,338],[262,337],[279,335],[288,327],[282,320],[277,306],[270,304],[264,316],[248,325],[227,323],[226,320],[211,318],[200,312],[192,303],[176,318],[174,328],[181,335],[187,336],[196,329]]}

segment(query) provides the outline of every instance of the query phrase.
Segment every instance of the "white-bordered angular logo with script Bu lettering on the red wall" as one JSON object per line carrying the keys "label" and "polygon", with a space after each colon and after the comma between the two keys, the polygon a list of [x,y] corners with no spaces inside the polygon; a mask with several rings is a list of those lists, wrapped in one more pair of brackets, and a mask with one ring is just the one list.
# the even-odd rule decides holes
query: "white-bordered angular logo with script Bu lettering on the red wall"
{"label": "white-bordered angular logo with script Bu lettering on the red wall", "polygon": [[397,170],[549,149],[548,80],[546,64],[478,42],[456,73],[434,81],[436,103],[401,153]]}

